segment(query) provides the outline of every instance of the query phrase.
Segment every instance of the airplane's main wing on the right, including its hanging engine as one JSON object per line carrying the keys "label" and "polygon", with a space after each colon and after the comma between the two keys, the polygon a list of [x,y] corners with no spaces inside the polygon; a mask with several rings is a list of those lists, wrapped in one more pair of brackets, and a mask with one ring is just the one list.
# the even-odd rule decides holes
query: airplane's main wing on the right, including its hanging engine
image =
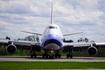
{"label": "airplane's main wing on the right, including its hanging engine", "polygon": [[77,42],[77,43],[64,43],[64,48],[69,51],[71,51],[71,54],[73,53],[73,48],[76,47],[87,47],[87,52],[89,55],[96,55],[98,52],[97,47],[105,47],[105,42]]}

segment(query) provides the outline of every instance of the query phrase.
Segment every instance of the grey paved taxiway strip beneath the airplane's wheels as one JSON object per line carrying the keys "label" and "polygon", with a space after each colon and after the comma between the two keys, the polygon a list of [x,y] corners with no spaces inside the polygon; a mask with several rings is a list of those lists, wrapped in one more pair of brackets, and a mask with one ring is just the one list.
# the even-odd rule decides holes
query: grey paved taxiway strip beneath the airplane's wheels
{"label": "grey paved taxiway strip beneath the airplane's wheels", "polygon": [[73,57],[43,59],[42,57],[30,58],[30,56],[0,56],[0,62],[5,61],[26,61],[26,62],[105,62],[105,57]]}

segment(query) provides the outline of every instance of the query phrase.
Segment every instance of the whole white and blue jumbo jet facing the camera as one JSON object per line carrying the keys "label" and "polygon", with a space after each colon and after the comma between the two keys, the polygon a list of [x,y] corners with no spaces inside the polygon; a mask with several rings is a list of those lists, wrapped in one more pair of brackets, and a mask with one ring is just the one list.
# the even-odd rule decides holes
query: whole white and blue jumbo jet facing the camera
{"label": "whole white and blue jumbo jet facing the camera", "polygon": [[[53,8],[52,8],[53,9]],[[52,12],[52,11],[51,11]],[[62,34],[58,25],[52,22],[52,13],[51,13],[51,24],[48,25],[43,34],[32,33],[27,31],[22,31],[26,33],[31,33],[35,35],[42,36],[41,42],[32,42],[32,41],[11,41],[11,40],[1,40],[0,44],[6,45],[6,50],[8,53],[15,53],[17,49],[28,49],[30,50],[31,57],[37,57],[36,51],[44,50],[42,55],[43,58],[61,58],[59,53],[64,48],[69,48],[67,58],[73,57],[73,48],[76,47],[87,47],[87,52],[90,55],[97,54],[98,50],[97,45],[105,45],[105,43],[86,43],[86,42],[77,42],[77,43],[65,43],[63,42],[64,36],[79,34]]]}

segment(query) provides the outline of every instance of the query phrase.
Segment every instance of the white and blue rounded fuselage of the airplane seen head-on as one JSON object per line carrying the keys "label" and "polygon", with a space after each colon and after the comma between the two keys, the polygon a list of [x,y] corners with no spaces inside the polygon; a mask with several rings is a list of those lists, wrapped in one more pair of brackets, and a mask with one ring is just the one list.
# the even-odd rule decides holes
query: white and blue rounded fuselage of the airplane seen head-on
{"label": "white and blue rounded fuselage of the airplane seen head-on", "polygon": [[63,47],[63,35],[57,25],[50,24],[46,27],[42,35],[41,47],[44,50],[60,50]]}

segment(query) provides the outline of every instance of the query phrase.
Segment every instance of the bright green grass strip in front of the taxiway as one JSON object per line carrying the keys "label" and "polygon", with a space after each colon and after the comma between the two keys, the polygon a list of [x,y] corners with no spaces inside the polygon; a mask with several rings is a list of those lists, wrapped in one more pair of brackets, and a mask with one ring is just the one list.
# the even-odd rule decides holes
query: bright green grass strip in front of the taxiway
{"label": "bright green grass strip in front of the taxiway", "polygon": [[0,70],[105,69],[105,62],[0,62]]}

